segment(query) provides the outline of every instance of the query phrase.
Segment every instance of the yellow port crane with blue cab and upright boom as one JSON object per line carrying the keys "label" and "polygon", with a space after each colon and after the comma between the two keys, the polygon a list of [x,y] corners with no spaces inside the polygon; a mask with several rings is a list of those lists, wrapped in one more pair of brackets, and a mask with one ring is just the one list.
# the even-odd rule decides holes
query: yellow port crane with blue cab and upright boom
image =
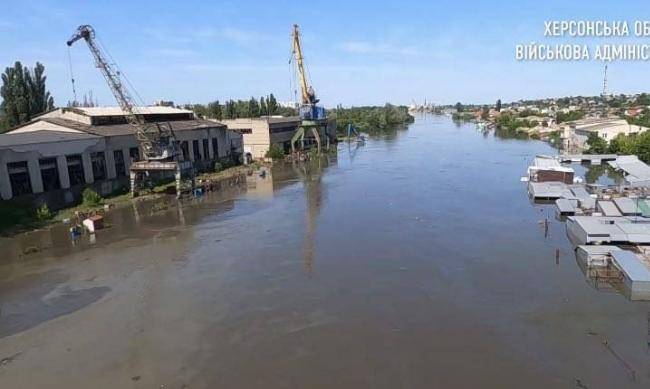
{"label": "yellow port crane with blue cab and upright boom", "polygon": [[[300,79],[300,91],[301,91],[301,105],[299,107],[299,116],[301,119],[301,125],[296,130],[293,138],[291,139],[291,151],[296,152],[295,144],[300,141],[302,148],[305,146],[305,135],[311,133],[313,135],[313,140],[316,142],[318,148],[318,153],[321,151],[321,142],[322,135],[325,133],[327,127],[327,116],[325,114],[325,109],[316,105],[318,99],[316,98],[316,92],[314,88],[309,85],[307,80],[307,72],[305,71],[305,63],[302,55],[302,45],[300,42],[300,28],[297,24],[293,25],[293,31],[291,34],[292,40],[292,57],[295,59],[296,72],[298,73],[298,78]],[[329,141],[329,138],[326,137]]]}

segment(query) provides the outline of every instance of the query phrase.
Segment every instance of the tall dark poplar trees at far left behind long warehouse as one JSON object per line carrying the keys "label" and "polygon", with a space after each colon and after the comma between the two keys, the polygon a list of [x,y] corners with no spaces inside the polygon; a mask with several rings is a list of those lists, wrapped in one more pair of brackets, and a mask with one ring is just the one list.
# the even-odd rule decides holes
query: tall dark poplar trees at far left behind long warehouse
{"label": "tall dark poplar trees at far left behind long warehouse", "polygon": [[45,87],[46,79],[45,67],[39,62],[33,69],[20,62],[5,69],[0,87],[0,132],[54,108],[54,99]]}

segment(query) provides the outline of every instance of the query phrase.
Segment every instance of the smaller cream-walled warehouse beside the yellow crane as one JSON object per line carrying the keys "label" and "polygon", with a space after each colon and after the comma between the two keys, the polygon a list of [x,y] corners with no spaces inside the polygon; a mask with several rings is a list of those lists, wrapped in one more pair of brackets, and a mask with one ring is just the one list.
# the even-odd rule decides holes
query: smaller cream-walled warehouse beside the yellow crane
{"label": "smaller cream-walled warehouse beside the yellow crane", "polygon": [[[291,151],[291,138],[301,124],[297,116],[262,116],[259,118],[224,119],[220,123],[229,130],[243,135],[243,153],[250,159],[261,160],[271,146],[279,147],[285,152]],[[336,121],[328,120],[326,135],[330,142],[336,139]],[[308,135],[309,136],[309,135]]]}

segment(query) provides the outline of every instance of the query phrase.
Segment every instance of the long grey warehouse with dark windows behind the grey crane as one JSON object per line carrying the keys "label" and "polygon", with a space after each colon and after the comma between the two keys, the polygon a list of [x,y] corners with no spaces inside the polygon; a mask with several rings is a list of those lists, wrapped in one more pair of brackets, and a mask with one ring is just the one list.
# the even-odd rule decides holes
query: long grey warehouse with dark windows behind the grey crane
{"label": "long grey warehouse with dark windows behind the grey crane", "polygon": [[[169,123],[182,159],[198,170],[241,153],[241,134],[173,107],[138,108],[145,121]],[[91,185],[106,195],[128,183],[140,159],[133,127],[119,107],[59,108],[0,135],[0,195],[34,195],[54,207]]]}

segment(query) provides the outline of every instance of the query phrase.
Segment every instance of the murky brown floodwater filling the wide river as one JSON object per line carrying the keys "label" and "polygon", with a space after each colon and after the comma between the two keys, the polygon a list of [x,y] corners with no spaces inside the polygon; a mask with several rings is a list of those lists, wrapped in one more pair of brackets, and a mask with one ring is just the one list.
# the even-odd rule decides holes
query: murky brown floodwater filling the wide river
{"label": "murky brown floodwater filling the wide river", "polygon": [[1,240],[0,387],[648,388],[650,304],[586,281],[519,182],[550,152],[419,117],[92,241]]}

